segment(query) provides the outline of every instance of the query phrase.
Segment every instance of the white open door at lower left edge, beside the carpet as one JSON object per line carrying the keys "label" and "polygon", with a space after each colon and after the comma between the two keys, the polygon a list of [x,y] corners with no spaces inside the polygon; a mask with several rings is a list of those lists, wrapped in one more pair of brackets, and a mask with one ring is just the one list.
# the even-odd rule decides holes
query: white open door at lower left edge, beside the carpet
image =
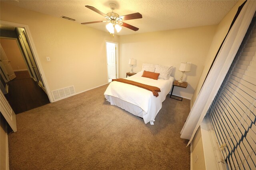
{"label": "white open door at lower left edge, beside the carpet", "polygon": [[17,125],[16,125],[16,115],[14,111],[12,110],[12,107],[4,97],[3,92],[0,90],[0,112],[12,128],[14,132],[17,131]]}

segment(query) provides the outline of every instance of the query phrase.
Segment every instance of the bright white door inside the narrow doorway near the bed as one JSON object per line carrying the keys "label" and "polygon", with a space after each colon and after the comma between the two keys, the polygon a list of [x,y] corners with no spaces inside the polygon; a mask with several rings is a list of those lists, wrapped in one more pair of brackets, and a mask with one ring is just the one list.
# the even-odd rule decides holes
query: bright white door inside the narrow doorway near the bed
{"label": "bright white door inside the narrow doorway near the bed", "polygon": [[106,43],[107,62],[108,62],[108,78],[116,79],[116,45],[114,43]]}

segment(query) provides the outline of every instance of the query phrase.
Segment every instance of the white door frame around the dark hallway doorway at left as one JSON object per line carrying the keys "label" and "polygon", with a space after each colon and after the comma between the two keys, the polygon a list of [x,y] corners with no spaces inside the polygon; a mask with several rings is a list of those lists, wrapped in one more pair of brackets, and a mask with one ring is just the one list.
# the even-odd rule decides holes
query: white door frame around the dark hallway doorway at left
{"label": "white door frame around the dark hallway doorway at left", "polygon": [[28,44],[30,45],[31,52],[32,52],[32,54],[34,56],[34,59],[35,59],[35,62],[37,64],[37,66],[38,66],[38,71],[39,71],[39,74],[41,75],[42,81],[44,83],[44,88],[46,90],[46,94],[47,94],[50,102],[52,103],[54,100],[53,100],[53,97],[51,95],[51,92],[50,92],[50,89],[49,89],[49,86],[48,86],[48,82],[46,80],[46,77],[45,77],[42,65],[40,63],[38,54],[36,52],[36,47],[34,45],[34,41],[32,39],[32,35],[30,33],[28,25],[21,24],[21,23],[9,22],[9,21],[2,21],[2,20],[0,20],[0,23],[1,23],[1,25],[7,25],[7,26],[12,26],[12,27],[20,27],[20,28],[24,28],[25,29],[27,40],[28,40]]}

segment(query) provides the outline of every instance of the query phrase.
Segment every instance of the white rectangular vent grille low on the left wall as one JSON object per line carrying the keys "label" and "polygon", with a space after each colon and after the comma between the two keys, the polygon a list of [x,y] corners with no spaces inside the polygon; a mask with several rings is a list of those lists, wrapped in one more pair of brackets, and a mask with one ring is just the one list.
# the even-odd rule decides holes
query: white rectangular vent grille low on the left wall
{"label": "white rectangular vent grille low on the left wall", "polygon": [[68,96],[72,96],[73,94],[75,94],[74,86],[52,91],[54,101],[66,98]]}

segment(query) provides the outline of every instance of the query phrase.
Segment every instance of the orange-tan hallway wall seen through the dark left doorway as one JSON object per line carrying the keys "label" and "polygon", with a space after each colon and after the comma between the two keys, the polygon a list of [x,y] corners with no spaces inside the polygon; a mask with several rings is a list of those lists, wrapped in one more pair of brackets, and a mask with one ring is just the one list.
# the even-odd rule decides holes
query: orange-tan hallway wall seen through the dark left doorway
{"label": "orange-tan hallway wall seen through the dark left doorway", "polygon": [[28,70],[16,39],[0,39],[4,52],[14,71]]}

